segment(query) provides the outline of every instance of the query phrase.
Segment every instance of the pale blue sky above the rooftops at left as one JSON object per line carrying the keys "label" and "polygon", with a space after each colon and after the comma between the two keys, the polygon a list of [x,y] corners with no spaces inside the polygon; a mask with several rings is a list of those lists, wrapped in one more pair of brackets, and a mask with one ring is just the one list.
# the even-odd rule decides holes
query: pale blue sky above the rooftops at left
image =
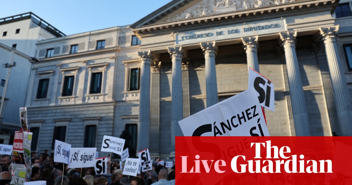
{"label": "pale blue sky above the rooftops at left", "polygon": [[66,35],[133,24],[171,0],[3,0],[0,18],[33,12]]}

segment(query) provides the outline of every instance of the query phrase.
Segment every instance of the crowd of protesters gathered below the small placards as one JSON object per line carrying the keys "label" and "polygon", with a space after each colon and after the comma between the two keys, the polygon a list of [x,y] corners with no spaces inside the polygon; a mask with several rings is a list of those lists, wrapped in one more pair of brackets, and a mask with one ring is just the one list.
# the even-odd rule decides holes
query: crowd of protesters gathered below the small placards
{"label": "crowd of protesters gathered below the small placards", "polygon": [[[166,169],[158,164],[159,158],[152,164],[152,170],[141,172],[136,177],[123,175],[119,161],[107,157],[106,174],[96,174],[94,167],[68,168],[68,164],[54,162],[54,154],[48,151],[36,155],[32,152],[32,173],[30,181],[46,181],[47,185],[174,185],[175,165]],[[10,185],[11,156],[1,155],[0,185]],[[63,175],[63,177],[62,177]]]}

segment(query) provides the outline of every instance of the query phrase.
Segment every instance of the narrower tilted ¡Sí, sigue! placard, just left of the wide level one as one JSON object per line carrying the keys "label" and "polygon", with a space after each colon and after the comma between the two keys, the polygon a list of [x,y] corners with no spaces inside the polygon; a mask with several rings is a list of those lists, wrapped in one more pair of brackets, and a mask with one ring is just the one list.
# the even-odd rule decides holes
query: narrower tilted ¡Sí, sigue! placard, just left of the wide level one
{"label": "narrower tilted \u00a1S\u00ed, sigue! placard, just left of the wide level one", "polygon": [[55,140],[54,162],[68,164],[70,159],[71,144]]}

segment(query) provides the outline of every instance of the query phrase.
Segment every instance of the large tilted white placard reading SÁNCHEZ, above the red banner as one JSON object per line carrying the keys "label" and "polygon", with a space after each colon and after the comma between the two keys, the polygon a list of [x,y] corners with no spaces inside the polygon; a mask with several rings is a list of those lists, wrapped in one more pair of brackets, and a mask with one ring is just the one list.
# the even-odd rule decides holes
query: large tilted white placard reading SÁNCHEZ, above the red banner
{"label": "large tilted white placard reading S\u00c1NCHEZ, above the red banner", "polygon": [[184,136],[269,136],[253,89],[227,98],[178,123]]}

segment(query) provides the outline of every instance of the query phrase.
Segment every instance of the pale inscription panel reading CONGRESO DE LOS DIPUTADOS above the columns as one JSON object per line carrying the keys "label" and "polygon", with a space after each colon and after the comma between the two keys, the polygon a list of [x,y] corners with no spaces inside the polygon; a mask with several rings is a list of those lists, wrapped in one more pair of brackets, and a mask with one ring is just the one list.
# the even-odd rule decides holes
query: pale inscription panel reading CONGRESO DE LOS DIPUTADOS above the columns
{"label": "pale inscription panel reading CONGRESO DE LOS DIPUTADOS above the columns", "polygon": [[285,19],[274,19],[270,21],[256,21],[250,24],[237,24],[231,26],[213,27],[197,31],[175,33],[175,45],[210,42],[229,38],[240,38],[269,33],[286,31]]}

